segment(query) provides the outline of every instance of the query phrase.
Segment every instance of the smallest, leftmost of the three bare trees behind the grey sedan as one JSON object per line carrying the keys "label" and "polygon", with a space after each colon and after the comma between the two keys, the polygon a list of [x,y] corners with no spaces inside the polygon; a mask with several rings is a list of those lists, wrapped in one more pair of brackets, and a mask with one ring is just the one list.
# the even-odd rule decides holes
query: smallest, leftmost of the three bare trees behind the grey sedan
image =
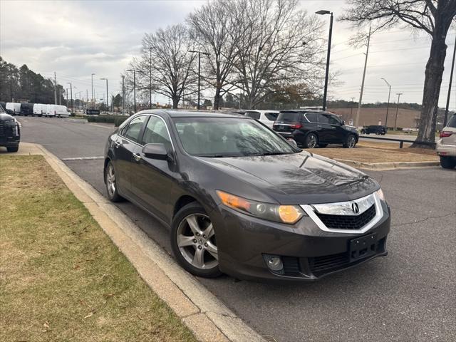
{"label": "smallest, leftmost of the three bare trees behind the grey sedan", "polygon": [[[138,71],[137,89],[149,91],[152,81],[155,93],[170,98],[172,108],[177,108],[184,92],[195,92],[197,76],[192,70],[195,55],[189,52],[191,44],[187,28],[182,24],[145,33],[141,58],[131,63]],[[131,83],[131,76],[128,81]]]}

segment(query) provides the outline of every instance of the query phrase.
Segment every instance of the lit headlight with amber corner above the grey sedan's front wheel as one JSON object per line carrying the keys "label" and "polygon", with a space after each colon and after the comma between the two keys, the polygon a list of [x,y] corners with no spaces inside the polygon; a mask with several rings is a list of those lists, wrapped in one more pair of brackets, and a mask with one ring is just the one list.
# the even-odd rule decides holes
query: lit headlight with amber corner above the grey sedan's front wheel
{"label": "lit headlight with amber corner above the grey sedan's front wheel", "polygon": [[250,214],[260,219],[269,219],[269,221],[294,224],[304,216],[301,207],[297,205],[282,205],[255,202],[235,195],[216,190],[222,203],[227,207],[236,209],[239,212]]}

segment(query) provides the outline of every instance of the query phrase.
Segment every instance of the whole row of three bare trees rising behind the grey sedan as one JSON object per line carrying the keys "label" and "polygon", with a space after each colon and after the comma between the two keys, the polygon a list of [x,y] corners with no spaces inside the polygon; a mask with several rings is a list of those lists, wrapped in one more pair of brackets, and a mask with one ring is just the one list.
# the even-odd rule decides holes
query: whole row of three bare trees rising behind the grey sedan
{"label": "whole row of three bare trees rising behind the grey sedan", "polygon": [[[322,24],[297,0],[219,0],[193,11],[185,24],[145,33],[133,58],[136,87],[159,93],[172,107],[202,90],[218,109],[225,94],[255,108],[276,98],[314,98],[324,78]],[[125,72],[133,87],[132,72]],[[291,91],[292,90],[292,91]]]}

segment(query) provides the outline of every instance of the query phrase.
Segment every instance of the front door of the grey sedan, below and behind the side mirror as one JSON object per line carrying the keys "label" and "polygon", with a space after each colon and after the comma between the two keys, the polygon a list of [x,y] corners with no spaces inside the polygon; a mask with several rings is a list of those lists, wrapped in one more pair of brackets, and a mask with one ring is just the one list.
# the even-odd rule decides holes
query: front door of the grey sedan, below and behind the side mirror
{"label": "front door of the grey sedan, below and behind the side mirror", "polygon": [[142,146],[163,144],[166,150],[173,152],[169,130],[160,116],[150,115],[145,124],[144,133],[135,151],[136,160],[132,169],[131,188],[135,199],[147,210],[163,220],[167,220],[169,198],[175,186],[175,172],[170,160],[157,160],[146,157]]}

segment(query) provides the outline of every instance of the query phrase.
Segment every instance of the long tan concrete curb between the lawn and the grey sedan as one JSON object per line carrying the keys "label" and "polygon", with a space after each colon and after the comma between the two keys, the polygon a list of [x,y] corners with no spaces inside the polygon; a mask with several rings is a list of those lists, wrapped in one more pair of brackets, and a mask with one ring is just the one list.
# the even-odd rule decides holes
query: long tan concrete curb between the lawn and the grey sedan
{"label": "long tan concrete curb between the lawn and the grey sedan", "polygon": [[147,285],[170,306],[199,341],[266,341],[58,157],[41,145],[27,145],[27,154],[45,157]]}

